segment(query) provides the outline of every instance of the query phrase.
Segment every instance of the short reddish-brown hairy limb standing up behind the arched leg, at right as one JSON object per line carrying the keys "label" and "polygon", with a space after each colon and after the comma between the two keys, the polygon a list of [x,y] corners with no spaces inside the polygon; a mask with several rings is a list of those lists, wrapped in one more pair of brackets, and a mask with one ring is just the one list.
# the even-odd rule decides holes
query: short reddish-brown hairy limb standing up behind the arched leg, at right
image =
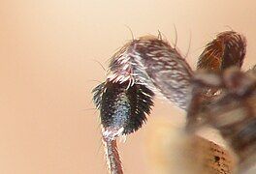
{"label": "short reddish-brown hairy limb standing up behind the arched leg, at right", "polygon": [[225,31],[206,45],[199,57],[197,68],[213,72],[222,72],[232,66],[240,68],[245,52],[245,38],[235,31]]}

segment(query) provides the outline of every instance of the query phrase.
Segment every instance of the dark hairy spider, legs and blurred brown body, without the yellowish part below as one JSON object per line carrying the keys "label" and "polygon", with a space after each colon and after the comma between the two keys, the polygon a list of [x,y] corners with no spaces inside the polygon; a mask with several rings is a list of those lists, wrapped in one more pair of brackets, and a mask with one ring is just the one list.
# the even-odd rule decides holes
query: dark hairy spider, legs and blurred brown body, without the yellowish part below
{"label": "dark hairy spider, legs and blurred brown body, without the yellowish part below", "polygon": [[[208,73],[193,72],[176,47],[161,37],[142,37],[121,47],[112,56],[107,80],[93,90],[110,172],[123,173],[116,138],[143,126],[155,94],[187,111],[188,134],[209,124],[229,141],[240,161],[249,155],[244,148],[253,155],[256,109],[249,99],[255,99],[255,73],[249,77],[230,69],[241,67],[245,45],[234,31],[217,35],[198,62],[198,69]],[[236,108],[243,112],[233,117],[229,111]]]}

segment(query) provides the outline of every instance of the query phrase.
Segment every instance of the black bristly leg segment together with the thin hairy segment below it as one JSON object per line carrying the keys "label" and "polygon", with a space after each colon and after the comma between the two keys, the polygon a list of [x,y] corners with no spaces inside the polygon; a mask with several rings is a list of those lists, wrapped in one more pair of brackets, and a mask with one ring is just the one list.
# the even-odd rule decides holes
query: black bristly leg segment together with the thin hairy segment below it
{"label": "black bristly leg segment together with the thin hairy segment below it", "polygon": [[127,89],[129,82],[115,83],[107,80],[94,88],[93,101],[100,109],[102,137],[106,158],[112,174],[122,174],[116,138],[140,129],[153,104],[153,93],[141,84]]}

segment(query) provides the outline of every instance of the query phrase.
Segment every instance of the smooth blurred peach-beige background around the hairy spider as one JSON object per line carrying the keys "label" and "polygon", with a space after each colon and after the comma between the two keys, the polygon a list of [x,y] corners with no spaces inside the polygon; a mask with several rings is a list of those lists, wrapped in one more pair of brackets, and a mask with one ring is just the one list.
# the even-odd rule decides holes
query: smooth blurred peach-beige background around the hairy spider
{"label": "smooth blurred peach-beige background around the hairy spider", "polygon": [[[107,173],[91,90],[123,43],[160,30],[195,69],[203,46],[230,28],[255,64],[253,0],[9,0],[0,2],[0,173]],[[191,38],[191,43],[189,40]],[[184,113],[157,101],[148,125],[120,144],[125,173],[150,173],[146,135],[154,119]]]}

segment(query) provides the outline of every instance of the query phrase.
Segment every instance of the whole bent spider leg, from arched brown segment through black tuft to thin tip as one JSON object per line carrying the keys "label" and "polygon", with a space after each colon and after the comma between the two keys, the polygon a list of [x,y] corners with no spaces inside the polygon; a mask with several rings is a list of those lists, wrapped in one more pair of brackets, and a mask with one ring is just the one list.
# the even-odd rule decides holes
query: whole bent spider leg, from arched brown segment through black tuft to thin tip
{"label": "whole bent spider leg, from arched brown segment through black tuft to thin tip", "polygon": [[192,70],[176,48],[161,38],[139,38],[126,43],[112,56],[106,81],[93,90],[112,173],[122,173],[116,138],[143,126],[154,94],[186,109],[191,76]]}

